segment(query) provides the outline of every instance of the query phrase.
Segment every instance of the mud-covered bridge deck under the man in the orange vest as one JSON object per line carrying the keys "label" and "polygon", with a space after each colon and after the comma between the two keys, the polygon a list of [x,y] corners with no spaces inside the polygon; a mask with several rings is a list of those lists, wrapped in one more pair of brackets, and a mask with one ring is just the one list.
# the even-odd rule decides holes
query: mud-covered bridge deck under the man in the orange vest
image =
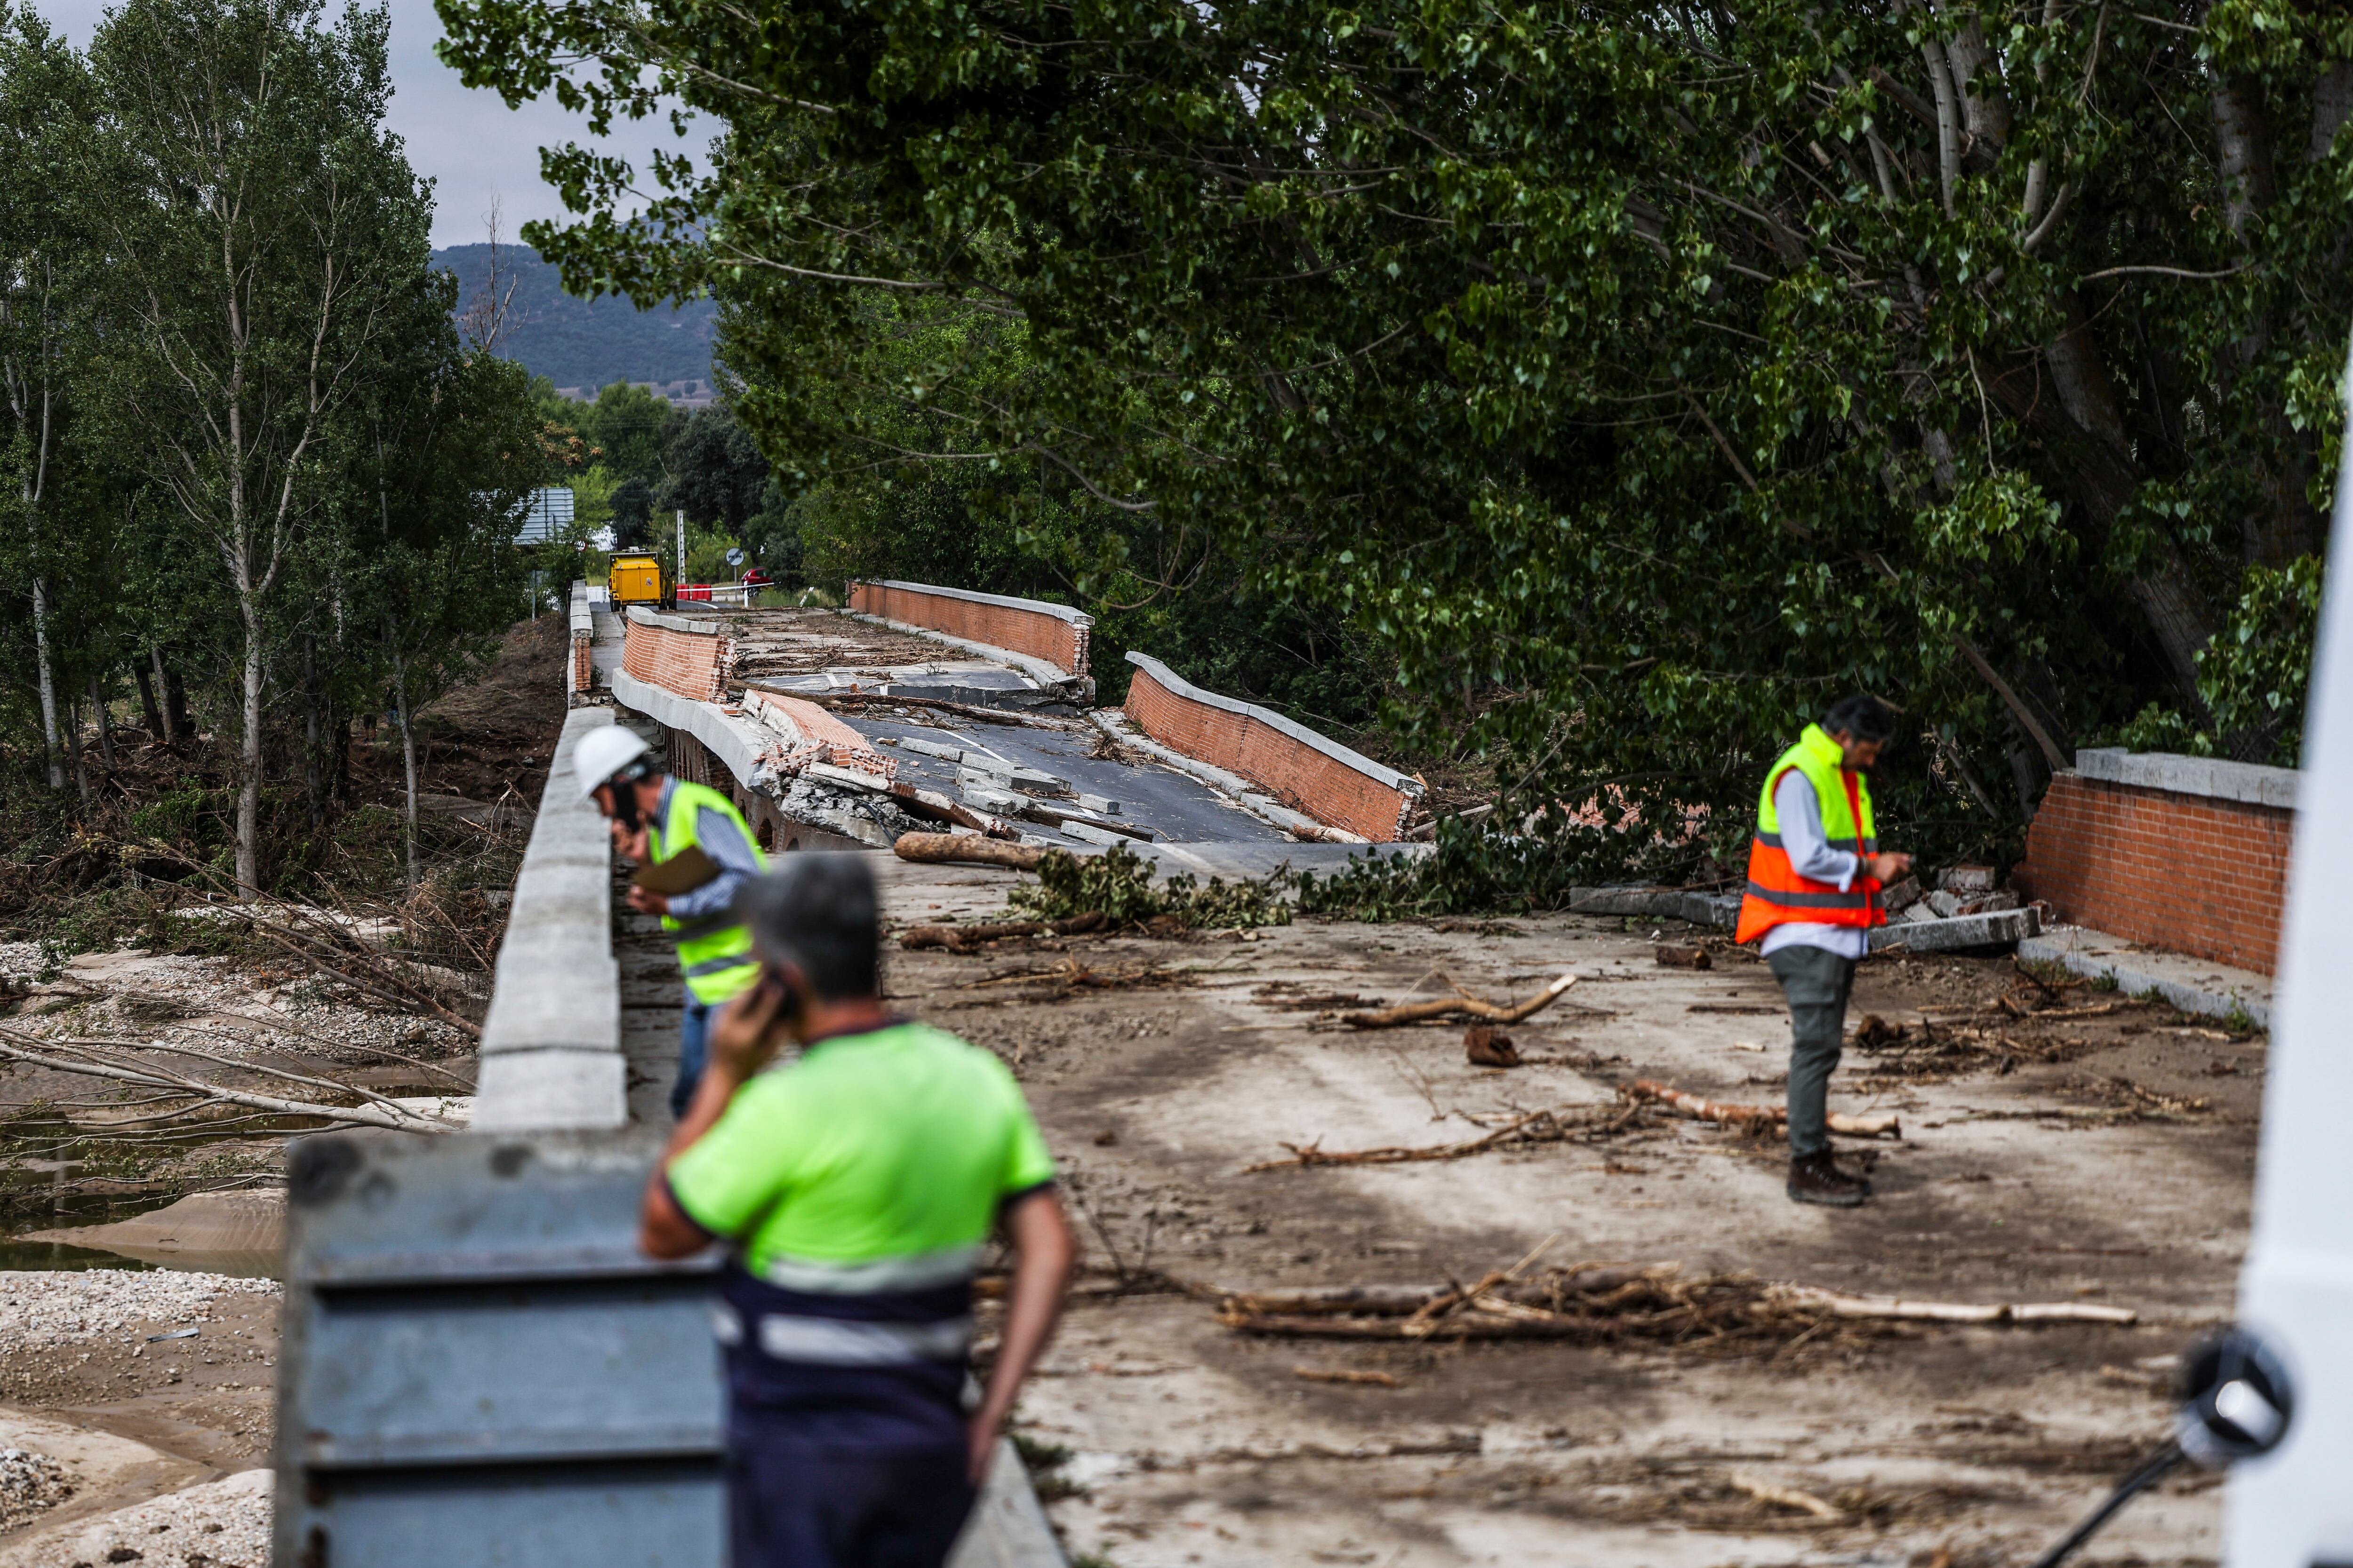
{"label": "mud-covered bridge deck under the man in the orange vest", "polygon": [[[998,910],[1007,884],[896,863],[892,879],[904,922]],[[1188,1284],[1445,1284],[1558,1234],[1555,1262],[2089,1300],[2141,1324],[1906,1326],[1748,1354],[1268,1340],[1221,1328],[1205,1298],[1108,1295],[1099,1269],[1024,1406],[1028,1436],[1073,1455],[1047,1481],[1066,1490],[1052,1512],[1073,1554],[1120,1568],[1925,1566],[1944,1549],[1951,1563],[2024,1563],[2162,1436],[2165,1359],[2231,1305],[2264,1041],[2082,987],[2047,997],[2007,959],[1866,966],[1854,1020],[1918,1030],[1929,1009],[1958,1020],[1939,1034],[1958,1060],[1906,1074],[1849,1046],[1833,1110],[1904,1119],[1901,1143],[1849,1147],[1875,1157],[1880,1197],[1864,1211],[1788,1204],[1777,1145],[1689,1121],[1459,1161],[1242,1173],[1285,1145],[1461,1143],[1511,1114],[1612,1103],[1635,1077],[1774,1103],[1788,1034],[1769,971],[1737,952],[1706,973],[1659,969],[1652,926],[1626,924],[1301,924],[1247,943],[915,952],[896,957],[892,990],[1016,1065],[1096,1265],[1108,1237],[1129,1269]],[[1181,973],[1007,980],[1068,961],[1094,980]],[[1360,1032],[1318,1018],[1329,1009],[1280,1006],[1433,994],[1440,973],[1527,994],[1562,969],[1581,976],[1565,1006],[1511,1034],[1527,1056],[1581,1065],[1489,1072],[1464,1063],[1461,1025]],[[2002,992],[2071,1016],[1934,1013]],[[1955,1034],[1969,1027],[1986,1039]],[[1835,1519],[1758,1488],[1807,1493]],[[2209,1561],[2217,1523],[2219,1490],[2188,1476],[2137,1505],[2097,1556]]]}

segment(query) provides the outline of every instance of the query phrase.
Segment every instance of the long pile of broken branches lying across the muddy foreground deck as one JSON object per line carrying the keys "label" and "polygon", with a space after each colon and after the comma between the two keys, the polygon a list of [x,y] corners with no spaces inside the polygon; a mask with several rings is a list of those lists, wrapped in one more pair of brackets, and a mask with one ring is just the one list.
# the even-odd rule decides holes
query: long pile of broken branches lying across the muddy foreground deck
{"label": "long pile of broken branches lying across the muddy foreground deck", "polygon": [[1977,1305],[1842,1295],[1753,1274],[1685,1276],[1680,1262],[1574,1265],[1471,1286],[1339,1286],[1228,1291],[1219,1324],[1313,1340],[1572,1340],[1661,1345],[1699,1354],[1762,1354],[1805,1340],[1868,1340],[1897,1324],[2132,1324],[2087,1302]]}

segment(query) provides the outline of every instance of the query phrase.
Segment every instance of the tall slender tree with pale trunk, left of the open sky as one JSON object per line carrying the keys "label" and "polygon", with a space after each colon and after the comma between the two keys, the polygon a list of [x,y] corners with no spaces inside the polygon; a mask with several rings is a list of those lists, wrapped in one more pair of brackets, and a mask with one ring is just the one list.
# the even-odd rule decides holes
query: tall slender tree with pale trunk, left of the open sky
{"label": "tall slender tree with pale trunk, left of the open sky", "polygon": [[339,421],[428,289],[431,197],[384,129],[388,14],[127,0],[80,181],[108,266],[94,395],[235,607],[238,886],[259,886],[273,614]]}

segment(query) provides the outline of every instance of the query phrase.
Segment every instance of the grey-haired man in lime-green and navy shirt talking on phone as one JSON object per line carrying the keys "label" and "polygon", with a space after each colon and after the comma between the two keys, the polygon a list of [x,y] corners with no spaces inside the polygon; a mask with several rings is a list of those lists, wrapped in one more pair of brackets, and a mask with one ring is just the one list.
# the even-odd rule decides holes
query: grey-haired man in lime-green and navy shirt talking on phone
{"label": "grey-haired man in lime-green and navy shirt talking on phone", "polygon": [[[880,999],[856,856],[798,853],[746,889],[760,983],[645,1190],[640,1244],[729,1244],[734,1568],[936,1568],[1045,1349],[1075,1246],[1005,1065]],[[798,1060],[767,1065],[784,1039]],[[972,1274],[1014,1251],[988,1389],[967,1401]]]}

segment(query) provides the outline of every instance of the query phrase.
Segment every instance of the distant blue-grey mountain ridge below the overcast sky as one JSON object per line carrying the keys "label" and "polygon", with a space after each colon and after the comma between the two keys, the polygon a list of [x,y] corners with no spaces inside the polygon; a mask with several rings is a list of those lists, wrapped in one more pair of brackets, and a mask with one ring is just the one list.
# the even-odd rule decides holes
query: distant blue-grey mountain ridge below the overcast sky
{"label": "distant blue-grey mountain ridge below the overcast sky", "polygon": [[[638,310],[626,299],[576,299],[565,294],[555,268],[527,244],[501,247],[515,268],[515,320],[499,353],[520,360],[534,376],[558,388],[581,388],[586,397],[609,381],[692,383],[711,388],[711,329],[718,306],[708,299],[685,306]],[[487,244],[452,244],[433,252],[433,266],[456,273],[459,310],[480,292],[489,273]]]}

